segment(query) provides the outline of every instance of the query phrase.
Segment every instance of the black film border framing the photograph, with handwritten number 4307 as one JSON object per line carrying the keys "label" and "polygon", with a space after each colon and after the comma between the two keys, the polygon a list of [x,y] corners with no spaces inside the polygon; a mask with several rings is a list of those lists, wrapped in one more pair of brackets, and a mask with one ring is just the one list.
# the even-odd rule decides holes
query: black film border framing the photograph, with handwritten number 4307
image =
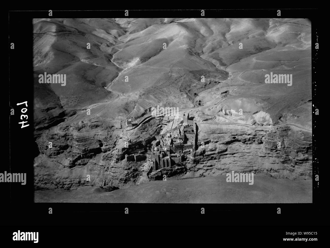
{"label": "black film border framing the photograph, with handwritten number 4307", "polygon": [[[83,6],[83,5],[82,5]],[[52,9],[52,18],[117,18],[124,16],[122,10],[84,10],[63,11]],[[81,9],[81,8],[79,8]],[[281,10],[281,17],[277,16],[277,10]],[[18,183],[1,184],[2,201],[5,203],[5,212],[10,213],[8,225],[56,225],[59,220],[62,225],[109,225],[108,216],[114,225],[136,225],[136,219],[144,219],[139,225],[202,225],[220,224],[226,225],[251,225],[251,222],[242,223],[244,216],[253,219],[254,225],[268,225],[274,221],[280,224],[304,225],[314,223],[313,216],[319,215],[321,210],[320,185],[315,181],[315,175],[319,174],[318,140],[319,128],[318,115],[315,109],[319,108],[319,96],[316,94],[318,81],[318,66],[320,64],[319,50],[315,49],[315,43],[319,42],[320,23],[319,10],[317,9],[241,9],[241,10],[205,10],[205,16],[201,16],[201,10],[129,10],[128,18],[134,17],[197,17],[197,18],[309,18],[312,22],[312,136],[313,136],[313,203],[261,203],[261,204],[185,204],[185,203],[34,203],[34,185],[31,177],[33,173],[33,159],[36,143],[33,138],[33,37],[32,18],[49,18],[48,10],[8,12],[9,17],[9,98],[10,109],[15,109],[15,115],[10,116],[9,134],[5,140],[10,140],[8,150],[9,160],[4,163],[3,171],[27,173],[26,185]],[[11,43],[15,49],[10,49]],[[321,46],[322,47],[322,46]],[[322,49],[322,48],[321,48]],[[21,129],[20,106],[16,103],[28,102],[29,127]],[[7,139],[8,138],[8,139]],[[6,142],[4,140],[4,142]],[[6,155],[7,157],[7,155]],[[11,167],[11,168],[10,168]],[[32,176],[31,176],[32,175]],[[49,214],[49,207],[52,214]],[[129,214],[125,214],[125,208]],[[205,214],[201,214],[201,208],[205,208]],[[281,214],[277,214],[277,208],[281,208]],[[19,216],[15,213],[21,213]],[[24,217],[22,217],[22,215]],[[226,218],[232,221],[227,222]],[[170,222],[170,219],[180,220],[178,223]],[[15,221],[14,221],[15,220]],[[67,223],[65,220],[70,220]],[[74,221],[73,221],[74,220]],[[87,221],[93,220],[93,221]],[[156,220],[158,222],[156,222]],[[164,221],[163,221],[164,220]],[[240,221],[241,220],[241,221]],[[159,223],[160,222],[160,223]],[[182,223],[181,223],[182,222]],[[213,223],[215,222],[215,223]],[[15,224],[14,224],[15,223]],[[316,223],[314,223],[316,224]]]}

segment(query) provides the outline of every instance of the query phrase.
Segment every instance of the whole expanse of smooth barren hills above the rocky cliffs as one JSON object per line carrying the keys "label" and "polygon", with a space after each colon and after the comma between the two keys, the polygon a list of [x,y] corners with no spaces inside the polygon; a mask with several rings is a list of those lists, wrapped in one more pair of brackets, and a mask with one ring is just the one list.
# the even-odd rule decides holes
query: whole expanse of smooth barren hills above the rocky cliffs
{"label": "whole expanse of smooth barren hills above the rocky cliffs", "polygon": [[[35,73],[67,74],[65,87],[49,87],[64,109],[96,105],[87,118],[119,121],[156,105],[231,108],[240,99],[276,121],[311,107],[310,26],[273,18],[34,19]],[[270,72],[292,74],[292,86],[265,84]]]}

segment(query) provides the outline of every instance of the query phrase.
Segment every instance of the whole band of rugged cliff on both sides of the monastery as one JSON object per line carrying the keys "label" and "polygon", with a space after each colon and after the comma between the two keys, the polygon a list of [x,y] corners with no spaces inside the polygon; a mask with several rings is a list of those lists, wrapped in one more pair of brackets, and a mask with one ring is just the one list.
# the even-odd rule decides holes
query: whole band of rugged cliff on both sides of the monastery
{"label": "whole band of rugged cliff on both sides of the monastery", "polygon": [[[146,181],[143,178],[148,163],[118,160],[120,132],[101,124],[72,124],[44,132],[37,139],[40,154],[35,159],[36,189],[125,188]],[[268,172],[274,178],[311,178],[310,132],[285,125],[272,129],[222,126],[199,125],[199,141],[205,145],[196,150],[194,160],[185,162],[182,178],[220,175],[231,170]]]}

